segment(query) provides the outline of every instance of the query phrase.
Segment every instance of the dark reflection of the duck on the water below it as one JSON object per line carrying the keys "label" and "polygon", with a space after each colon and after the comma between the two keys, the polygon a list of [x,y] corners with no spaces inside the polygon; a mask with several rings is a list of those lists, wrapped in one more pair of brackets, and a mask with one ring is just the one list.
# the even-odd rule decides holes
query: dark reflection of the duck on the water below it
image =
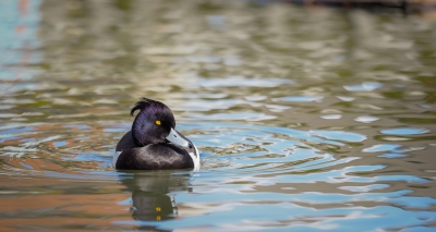
{"label": "dark reflection of the duck on the water below it", "polygon": [[[189,191],[190,173],[174,171],[135,171],[120,175],[120,181],[132,192],[131,213],[134,220],[156,222],[178,217],[172,192]],[[160,230],[153,225],[141,225],[142,230]]]}

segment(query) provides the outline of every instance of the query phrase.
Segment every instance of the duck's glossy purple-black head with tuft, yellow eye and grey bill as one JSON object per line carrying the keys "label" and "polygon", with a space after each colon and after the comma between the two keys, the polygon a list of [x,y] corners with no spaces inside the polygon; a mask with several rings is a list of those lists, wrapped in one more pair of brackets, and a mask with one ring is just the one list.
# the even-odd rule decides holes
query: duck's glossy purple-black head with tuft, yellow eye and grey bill
{"label": "duck's glossy purple-black head with tuft, yellow eye and grey bill", "polygon": [[165,103],[142,98],[131,110],[137,113],[132,124],[133,141],[137,146],[171,142],[182,147],[193,148],[193,144],[177,132],[174,115]]}

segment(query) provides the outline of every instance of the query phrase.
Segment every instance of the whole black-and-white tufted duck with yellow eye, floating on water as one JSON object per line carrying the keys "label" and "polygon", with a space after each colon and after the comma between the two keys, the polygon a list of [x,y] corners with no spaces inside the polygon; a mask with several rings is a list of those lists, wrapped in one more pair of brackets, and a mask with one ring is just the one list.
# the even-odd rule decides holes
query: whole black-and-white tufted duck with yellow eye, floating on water
{"label": "whole black-and-white tufted duck with yellow eye, floating on water", "polygon": [[195,145],[174,130],[175,120],[164,103],[143,98],[131,110],[140,110],[132,130],[116,148],[113,166],[121,170],[199,168]]}

